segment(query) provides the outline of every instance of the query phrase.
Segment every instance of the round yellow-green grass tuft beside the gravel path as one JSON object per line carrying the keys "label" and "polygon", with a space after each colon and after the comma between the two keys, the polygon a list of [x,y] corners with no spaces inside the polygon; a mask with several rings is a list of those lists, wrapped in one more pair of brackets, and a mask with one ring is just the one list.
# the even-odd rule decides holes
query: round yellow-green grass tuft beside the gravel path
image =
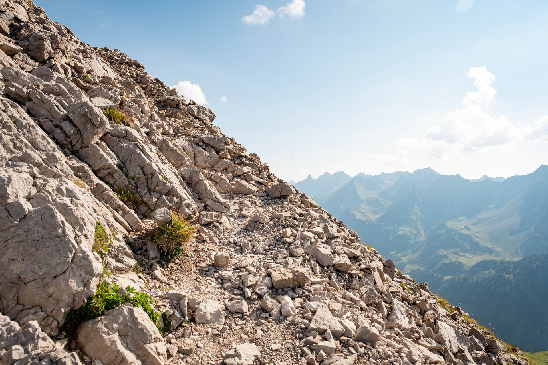
{"label": "round yellow-green grass tuft beside the gravel path", "polygon": [[172,219],[156,229],[156,245],[165,258],[179,256],[182,245],[192,239],[196,232],[196,225],[181,213],[171,211]]}

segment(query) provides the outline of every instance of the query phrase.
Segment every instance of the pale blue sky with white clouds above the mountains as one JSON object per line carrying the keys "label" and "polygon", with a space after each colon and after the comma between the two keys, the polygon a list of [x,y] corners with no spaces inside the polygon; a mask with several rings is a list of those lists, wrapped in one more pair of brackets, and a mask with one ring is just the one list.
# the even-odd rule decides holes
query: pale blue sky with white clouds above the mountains
{"label": "pale blue sky with white clouds above the mountains", "polygon": [[[36,3],[166,84],[199,85],[184,90],[287,180],[548,164],[545,1]],[[244,18],[256,5],[263,24]]]}

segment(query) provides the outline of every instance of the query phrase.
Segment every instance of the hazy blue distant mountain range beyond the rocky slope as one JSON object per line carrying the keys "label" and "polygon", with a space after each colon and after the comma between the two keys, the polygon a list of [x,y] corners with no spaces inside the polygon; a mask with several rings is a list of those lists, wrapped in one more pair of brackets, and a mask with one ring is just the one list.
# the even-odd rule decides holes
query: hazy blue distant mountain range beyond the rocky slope
{"label": "hazy blue distant mountain range beyond the rocky slope", "polygon": [[[548,289],[526,283],[548,275],[542,255],[548,253],[548,166],[523,176],[475,180],[430,168],[353,177],[326,172],[294,186],[404,273],[463,303],[510,343],[547,349],[546,304],[532,318],[526,303],[545,303]],[[481,296],[465,295],[472,288],[481,289]],[[529,332],[512,325],[516,318]]]}

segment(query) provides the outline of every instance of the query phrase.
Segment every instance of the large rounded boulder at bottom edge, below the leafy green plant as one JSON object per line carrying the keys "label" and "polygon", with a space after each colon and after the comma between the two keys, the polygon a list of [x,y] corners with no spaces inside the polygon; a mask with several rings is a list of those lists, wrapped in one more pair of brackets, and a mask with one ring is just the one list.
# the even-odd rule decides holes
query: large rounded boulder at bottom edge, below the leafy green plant
{"label": "large rounded boulder at bottom edge, below the leafy green plant", "polygon": [[104,364],[155,364],[165,361],[162,336],[146,313],[124,304],[82,323],[76,333],[78,347]]}

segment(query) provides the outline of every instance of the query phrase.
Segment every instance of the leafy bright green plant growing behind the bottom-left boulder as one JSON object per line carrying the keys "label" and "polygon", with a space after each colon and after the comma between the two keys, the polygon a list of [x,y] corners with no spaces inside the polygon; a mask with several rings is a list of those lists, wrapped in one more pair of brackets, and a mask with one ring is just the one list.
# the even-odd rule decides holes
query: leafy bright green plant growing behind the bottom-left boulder
{"label": "leafy bright green plant growing behind the bottom-left boulder", "polygon": [[130,296],[128,293],[118,294],[118,285],[112,284],[111,286],[108,282],[101,281],[97,286],[96,294],[89,297],[84,305],[68,311],[65,323],[59,329],[59,332],[65,332],[70,337],[75,333],[81,322],[99,317],[105,311],[115,309],[118,305],[124,303],[141,307],[149,315],[152,322],[157,323],[159,312],[152,308],[152,297],[147,293],[135,292],[135,289],[130,286],[126,287],[125,290],[133,295]]}

